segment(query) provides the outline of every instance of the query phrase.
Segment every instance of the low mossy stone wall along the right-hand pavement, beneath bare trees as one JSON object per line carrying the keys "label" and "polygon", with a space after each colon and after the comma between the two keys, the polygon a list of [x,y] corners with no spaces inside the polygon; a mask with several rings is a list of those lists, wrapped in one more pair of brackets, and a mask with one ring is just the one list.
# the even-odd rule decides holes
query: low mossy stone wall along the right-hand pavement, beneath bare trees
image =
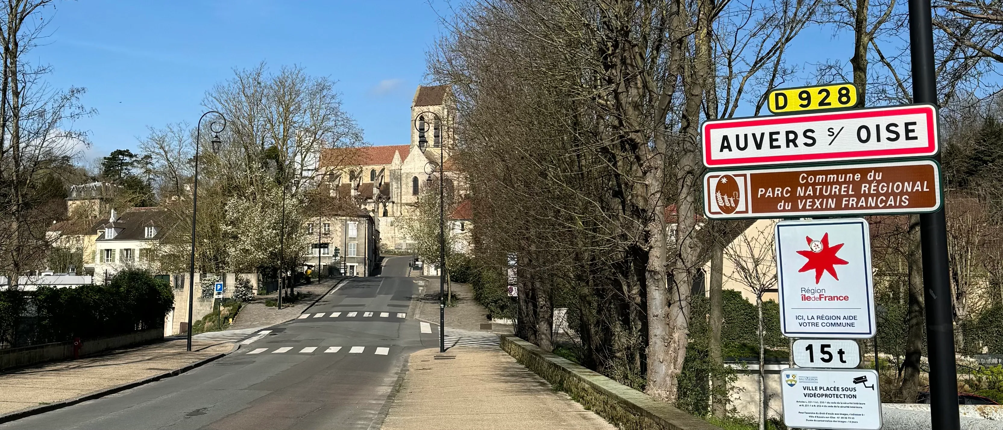
{"label": "low mossy stone wall along the right-hand pavement, beneath bare trees", "polygon": [[545,352],[515,336],[501,349],[557,389],[621,429],[721,430],[700,418],[653,399],[599,373]]}

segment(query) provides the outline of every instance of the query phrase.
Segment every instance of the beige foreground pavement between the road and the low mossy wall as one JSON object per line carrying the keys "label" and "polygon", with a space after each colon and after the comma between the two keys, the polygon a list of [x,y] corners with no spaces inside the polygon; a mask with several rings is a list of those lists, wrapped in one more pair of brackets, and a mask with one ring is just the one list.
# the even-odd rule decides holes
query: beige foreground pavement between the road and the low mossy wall
{"label": "beige foreground pavement between the road and the low mossy wall", "polygon": [[411,354],[383,430],[615,430],[499,349]]}

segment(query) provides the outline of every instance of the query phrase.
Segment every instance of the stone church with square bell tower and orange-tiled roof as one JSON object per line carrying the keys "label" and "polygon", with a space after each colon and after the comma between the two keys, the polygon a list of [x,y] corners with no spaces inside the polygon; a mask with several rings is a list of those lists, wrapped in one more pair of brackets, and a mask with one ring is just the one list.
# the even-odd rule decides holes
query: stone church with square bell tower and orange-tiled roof
{"label": "stone church with square bell tower and orange-tiled roof", "polygon": [[[376,221],[384,250],[407,250],[399,221],[413,217],[421,191],[444,175],[445,193],[465,197],[454,149],[455,102],[449,85],[418,86],[411,102],[410,143],[324,149],[318,172],[331,195],[351,197]],[[433,182],[434,181],[434,182]]]}

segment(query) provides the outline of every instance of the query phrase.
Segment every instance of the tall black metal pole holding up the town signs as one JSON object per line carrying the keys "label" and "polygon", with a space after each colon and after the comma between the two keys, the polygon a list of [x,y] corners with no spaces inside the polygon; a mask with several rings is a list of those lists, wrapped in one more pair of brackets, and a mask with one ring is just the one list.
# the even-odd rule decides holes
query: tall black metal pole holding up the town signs
{"label": "tall black metal pole holding up the town signs", "polygon": [[[930,0],[909,0],[909,40],[913,67],[913,102],[937,104],[934,36]],[[940,161],[940,155],[937,156]],[[954,324],[947,268],[944,208],[920,216],[923,287],[926,292],[927,354],[930,358],[932,428],[960,430],[958,375],[954,362]]]}

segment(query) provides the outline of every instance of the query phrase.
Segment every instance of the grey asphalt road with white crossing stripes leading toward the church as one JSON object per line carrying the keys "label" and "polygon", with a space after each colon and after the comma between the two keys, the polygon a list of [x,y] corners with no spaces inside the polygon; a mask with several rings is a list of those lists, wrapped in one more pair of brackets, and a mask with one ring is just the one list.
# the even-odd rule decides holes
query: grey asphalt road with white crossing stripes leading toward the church
{"label": "grey asphalt road with white crossing stripes leading toward the church", "polygon": [[206,366],[0,429],[378,429],[404,359],[436,346],[408,314],[418,292],[408,259],[387,259],[382,276],[348,281],[310,317]]}

